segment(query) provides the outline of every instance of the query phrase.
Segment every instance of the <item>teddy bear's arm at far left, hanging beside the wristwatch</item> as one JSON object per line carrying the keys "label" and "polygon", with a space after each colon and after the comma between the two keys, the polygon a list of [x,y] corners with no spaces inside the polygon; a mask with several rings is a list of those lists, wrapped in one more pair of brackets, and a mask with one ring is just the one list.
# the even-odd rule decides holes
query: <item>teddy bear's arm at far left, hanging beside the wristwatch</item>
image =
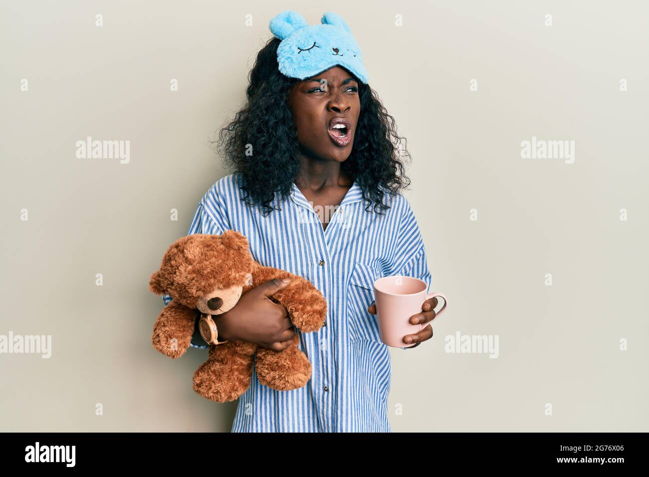
{"label": "teddy bear's arm at far left, hanging beside the wristwatch", "polygon": [[153,325],[153,347],[169,358],[180,358],[190,347],[196,318],[196,310],[171,300]]}

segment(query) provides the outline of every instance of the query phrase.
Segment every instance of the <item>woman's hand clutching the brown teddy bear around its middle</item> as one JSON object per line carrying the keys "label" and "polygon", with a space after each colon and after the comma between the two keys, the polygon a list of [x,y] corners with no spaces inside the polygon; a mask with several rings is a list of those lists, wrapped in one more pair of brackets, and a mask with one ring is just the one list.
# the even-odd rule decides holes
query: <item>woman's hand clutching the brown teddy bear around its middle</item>
{"label": "woman's hand clutching the brown teddy bear around its middle", "polygon": [[243,293],[236,305],[214,315],[219,341],[241,339],[262,348],[281,351],[293,343],[295,328],[286,307],[269,299],[290,283],[273,278]]}

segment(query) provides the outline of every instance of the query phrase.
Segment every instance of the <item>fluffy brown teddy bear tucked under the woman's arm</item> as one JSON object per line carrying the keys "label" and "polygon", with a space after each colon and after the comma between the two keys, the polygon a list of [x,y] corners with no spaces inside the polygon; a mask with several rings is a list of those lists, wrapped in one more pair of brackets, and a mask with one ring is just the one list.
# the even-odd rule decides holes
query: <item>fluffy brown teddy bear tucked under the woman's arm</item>
{"label": "fluffy brown teddy bear tucked under the woman's arm", "polygon": [[[322,293],[301,276],[256,262],[248,239],[240,232],[226,230],[220,236],[193,234],[178,239],[149,280],[149,290],[172,298],[153,326],[153,347],[170,358],[179,358],[190,347],[200,313],[225,313],[246,291],[273,278],[287,277],[289,285],[269,299],[286,307],[301,332],[319,330],[327,310]],[[261,384],[279,391],[302,387],[311,378],[312,368],[298,343],[296,333],[291,345],[281,351],[241,340],[210,345],[208,359],[193,375],[193,389],[215,402],[236,400],[251,384],[253,359]]]}

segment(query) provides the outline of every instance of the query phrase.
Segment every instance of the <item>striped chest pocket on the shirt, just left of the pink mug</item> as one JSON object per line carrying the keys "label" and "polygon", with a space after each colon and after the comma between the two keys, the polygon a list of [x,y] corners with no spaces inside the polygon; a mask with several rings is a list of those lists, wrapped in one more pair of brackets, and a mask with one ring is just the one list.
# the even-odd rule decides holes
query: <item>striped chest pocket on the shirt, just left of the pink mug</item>
{"label": "striped chest pocket on the shirt, just left of the pink mug", "polygon": [[349,339],[369,339],[382,343],[376,315],[367,311],[374,301],[374,281],[381,278],[379,269],[365,263],[354,263],[347,284],[347,326]]}

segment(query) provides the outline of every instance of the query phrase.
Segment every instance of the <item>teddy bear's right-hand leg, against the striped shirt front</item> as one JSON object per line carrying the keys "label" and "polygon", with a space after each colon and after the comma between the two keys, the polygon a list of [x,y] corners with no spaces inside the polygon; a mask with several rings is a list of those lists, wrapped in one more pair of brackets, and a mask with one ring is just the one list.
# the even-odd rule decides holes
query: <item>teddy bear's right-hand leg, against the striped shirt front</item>
{"label": "teddy bear's right-hand leg, against the striped shirt front", "polygon": [[296,333],[293,343],[282,351],[265,348],[257,350],[255,368],[261,384],[278,391],[289,391],[304,386],[310,380],[311,363],[298,349],[298,343]]}

